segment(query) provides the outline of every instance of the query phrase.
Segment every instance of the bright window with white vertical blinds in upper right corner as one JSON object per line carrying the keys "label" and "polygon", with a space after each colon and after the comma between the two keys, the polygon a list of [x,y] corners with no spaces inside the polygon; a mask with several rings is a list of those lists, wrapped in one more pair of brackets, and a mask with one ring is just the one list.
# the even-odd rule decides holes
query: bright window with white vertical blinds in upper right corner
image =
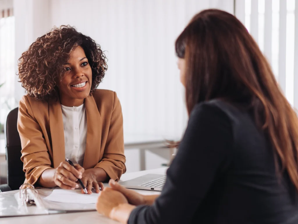
{"label": "bright window with white vertical blinds in upper right corner", "polygon": [[298,53],[295,52],[298,51],[295,0],[236,0],[235,4],[236,16],[267,57],[290,104],[298,108],[298,73],[294,76],[295,66],[298,68],[294,63],[297,60],[294,55]]}

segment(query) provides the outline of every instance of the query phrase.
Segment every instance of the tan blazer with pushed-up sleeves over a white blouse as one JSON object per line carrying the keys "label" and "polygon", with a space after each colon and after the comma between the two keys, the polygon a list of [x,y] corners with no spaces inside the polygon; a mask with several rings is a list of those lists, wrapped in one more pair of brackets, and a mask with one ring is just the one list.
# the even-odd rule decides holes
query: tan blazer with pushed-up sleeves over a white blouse
{"label": "tan blazer with pushed-up sleeves over a white blouse", "polygon": [[[87,140],[83,168],[100,167],[112,179],[125,173],[123,117],[115,92],[96,90],[85,99]],[[23,96],[19,103],[18,132],[21,137],[26,181],[35,184],[48,168],[65,161],[61,104]]]}

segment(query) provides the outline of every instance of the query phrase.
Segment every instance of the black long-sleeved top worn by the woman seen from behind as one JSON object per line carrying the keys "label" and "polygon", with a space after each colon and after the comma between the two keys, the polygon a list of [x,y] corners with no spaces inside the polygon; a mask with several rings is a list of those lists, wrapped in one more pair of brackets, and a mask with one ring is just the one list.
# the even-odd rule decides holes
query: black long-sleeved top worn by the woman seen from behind
{"label": "black long-sleeved top worn by the woman seen from behind", "polygon": [[291,189],[252,116],[213,100],[193,109],[160,197],[128,223],[298,223]]}

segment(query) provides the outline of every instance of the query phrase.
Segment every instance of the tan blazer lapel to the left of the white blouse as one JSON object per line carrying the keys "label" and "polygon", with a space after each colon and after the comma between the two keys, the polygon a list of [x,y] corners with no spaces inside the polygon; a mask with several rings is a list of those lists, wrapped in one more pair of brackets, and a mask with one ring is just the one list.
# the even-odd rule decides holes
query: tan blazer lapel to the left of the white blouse
{"label": "tan blazer lapel to the left of the white blouse", "polygon": [[49,102],[49,124],[52,138],[54,168],[65,161],[65,139],[63,129],[62,110],[59,97]]}

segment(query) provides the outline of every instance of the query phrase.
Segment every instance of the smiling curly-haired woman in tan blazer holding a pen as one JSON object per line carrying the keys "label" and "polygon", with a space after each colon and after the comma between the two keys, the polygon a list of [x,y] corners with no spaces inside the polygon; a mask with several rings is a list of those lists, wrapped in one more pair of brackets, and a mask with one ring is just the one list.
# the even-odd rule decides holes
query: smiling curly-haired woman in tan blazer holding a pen
{"label": "smiling curly-haired woman in tan blazer holding a pen", "polygon": [[100,45],[70,26],[54,28],[22,54],[18,75],[27,95],[18,131],[25,182],[75,189],[81,179],[91,194],[125,172],[119,99],[97,89],[106,69]]}

